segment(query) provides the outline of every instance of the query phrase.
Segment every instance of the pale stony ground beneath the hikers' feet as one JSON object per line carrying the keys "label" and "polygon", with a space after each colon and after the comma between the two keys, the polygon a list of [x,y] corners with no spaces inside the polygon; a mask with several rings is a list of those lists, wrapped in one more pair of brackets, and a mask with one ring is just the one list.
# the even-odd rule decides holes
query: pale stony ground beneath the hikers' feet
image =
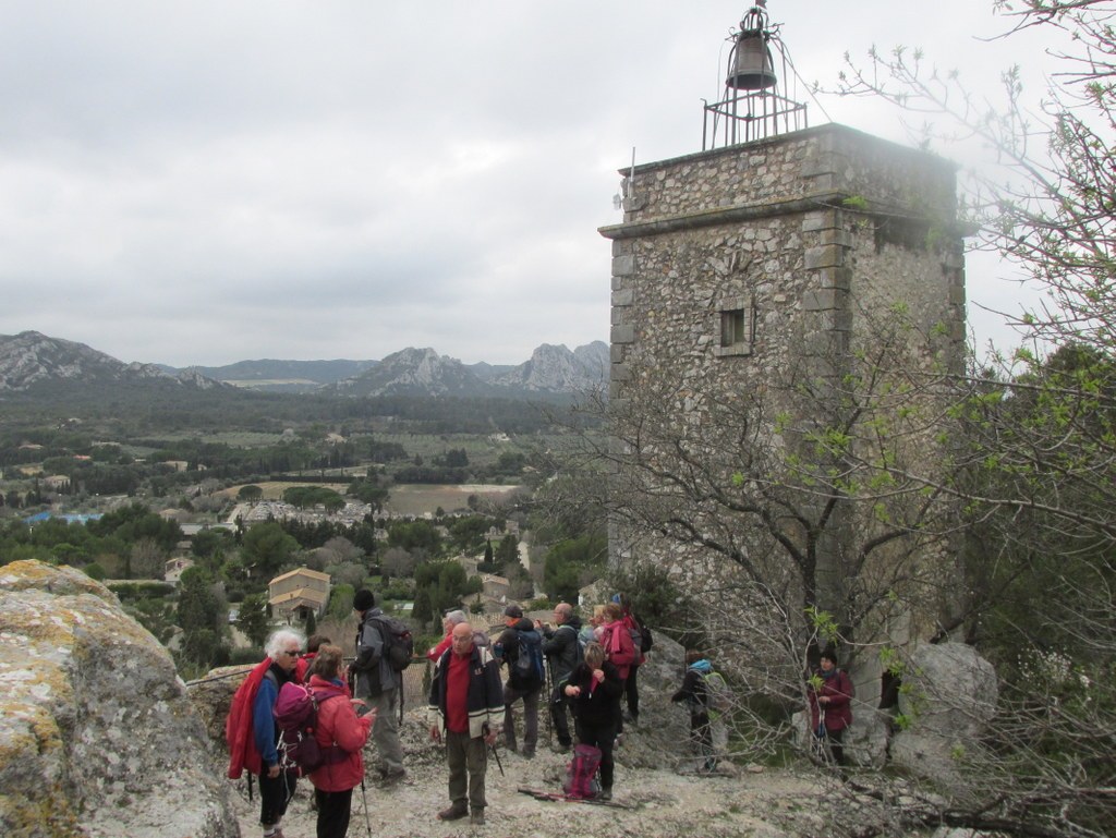
{"label": "pale stony ground beneath the hikers' feet", "polygon": [[[499,836],[503,838],[789,838],[825,835],[825,819],[811,801],[822,800],[826,788],[811,773],[782,771],[739,772],[737,777],[694,777],[668,770],[628,769],[618,762],[615,800],[628,809],[589,803],[536,800],[520,786],[557,791],[566,758],[549,751],[533,760],[501,752],[504,776],[490,760],[487,823],[470,827],[468,820],[443,823],[435,812],[444,808],[446,770],[434,747],[407,754],[407,779],[389,788],[368,782],[367,822],[360,790],[354,794],[350,838],[450,838]],[[259,798],[249,803],[243,783],[237,787],[234,808],[241,834],[260,835]],[[312,838],[315,815],[311,791],[301,782],[283,819],[286,838]],[[815,831],[817,830],[817,831]]]}

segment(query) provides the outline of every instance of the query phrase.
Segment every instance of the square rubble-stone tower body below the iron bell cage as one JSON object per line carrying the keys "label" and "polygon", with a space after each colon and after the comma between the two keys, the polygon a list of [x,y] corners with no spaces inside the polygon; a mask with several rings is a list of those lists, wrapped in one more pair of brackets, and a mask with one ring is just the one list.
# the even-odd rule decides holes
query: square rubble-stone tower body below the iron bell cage
{"label": "square rubble-stone tower body below the iron bell cage", "polygon": [[949,444],[954,166],[829,124],[620,174],[613,560],[778,585],[857,642],[949,630],[950,510],[903,474]]}

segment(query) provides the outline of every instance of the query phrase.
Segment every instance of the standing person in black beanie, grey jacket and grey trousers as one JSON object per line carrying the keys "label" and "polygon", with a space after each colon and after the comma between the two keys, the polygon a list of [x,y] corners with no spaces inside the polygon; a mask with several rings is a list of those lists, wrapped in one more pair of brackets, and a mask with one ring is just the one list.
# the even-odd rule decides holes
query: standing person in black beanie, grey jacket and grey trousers
{"label": "standing person in black beanie, grey jacket and grey trousers", "polygon": [[403,675],[392,668],[384,654],[391,638],[384,636],[386,627],[384,613],[376,608],[376,597],[367,588],[360,588],[353,597],[353,610],[357,613],[360,626],[356,635],[356,672],[354,695],[367,700],[376,711],[376,722],[372,729],[372,740],[376,743],[379,762],[376,770],[382,780],[398,782],[407,772],[403,768],[403,747],[400,744],[400,701]]}

